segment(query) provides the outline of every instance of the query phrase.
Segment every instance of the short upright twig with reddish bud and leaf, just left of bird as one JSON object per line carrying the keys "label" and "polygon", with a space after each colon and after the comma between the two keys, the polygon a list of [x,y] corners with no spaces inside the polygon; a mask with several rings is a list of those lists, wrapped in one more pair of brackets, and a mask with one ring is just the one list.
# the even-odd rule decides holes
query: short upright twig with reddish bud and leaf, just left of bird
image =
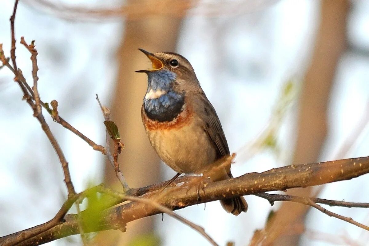
{"label": "short upright twig with reddish bud and leaf, just left of bird", "polygon": [[[100,109],[101,112],[103,112],[105,121],[109,121],[110,120],[110,109],[101,105],[101,102],[99,100],[99,96],[96,94],[96,100],[100,105]],[[125,177],[123,175],[123,173],[120,171],[120,167],[119,167],[119,163],[118,163],[118,155],[120,154],[121,150],[124,148],[124,144],[120,142],[120,139],[113,139],[114,142],[114,153],[113,155],[111,154],[110,151],[110,145],[109,145],[109,139],[110,139],[110,134],[108,133],[108,129],[106,128],[105,131],[105,135],[106,135],[106,156],[111,164],[111,166],[113,166],[114,171],[115,171],[115,176],[117,176],[117,178],[119,179],[120,183],[123,186],[123,190],[124,191],[128,191],[130,189],[130,187],[127,184],[127,181],[125,181]]]}

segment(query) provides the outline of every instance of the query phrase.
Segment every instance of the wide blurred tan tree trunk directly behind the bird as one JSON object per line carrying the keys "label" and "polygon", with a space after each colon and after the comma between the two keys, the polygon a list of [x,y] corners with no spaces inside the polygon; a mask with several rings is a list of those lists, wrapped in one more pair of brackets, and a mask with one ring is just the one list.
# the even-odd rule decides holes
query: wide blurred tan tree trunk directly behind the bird
{"label": "wide blurred tan tree trunk directly behind the bird", "polygon": [[[141,121],[142,99],[147,77],[135,70],[151,67],[137,48],[150,52],[174,51],[181,19],[164,16],[143,17],[125,22],[122,43],[117,53],[118,77],[111,115],[118,125],[125,149],[119,157],[121,171],[130,187],[142,187],[162,179],[159,157],[152,149]],[[105,182],[121,188],[110,164],[106,165]],[[127,232],[110,231],[96,237],[99,245],[127,245],[138,235],[153,232],[154,217],[127,225]]]}

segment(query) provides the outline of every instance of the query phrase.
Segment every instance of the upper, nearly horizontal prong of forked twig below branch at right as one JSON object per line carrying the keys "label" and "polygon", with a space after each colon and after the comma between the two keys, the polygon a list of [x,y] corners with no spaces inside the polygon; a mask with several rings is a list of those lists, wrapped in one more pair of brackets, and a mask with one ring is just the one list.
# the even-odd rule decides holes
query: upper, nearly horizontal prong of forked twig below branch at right
{"label": "upper, nearly horizontal prong of forked twig below branch at right", "polygon": [[[269,201],[270,205],[274,205],[277,201],[294,201],[296,196],[294,195],[281,195],[281,194],[269,194],[269,193],[259,193],[255,194],[258,197],[264,198]],[[346,201],[336,201],[327,200],[322,198],[308,198],[315,203],[329,205],[331,207],[345,207],[345,208],[369,208],[369,203],[367,202],[346,202]]]}

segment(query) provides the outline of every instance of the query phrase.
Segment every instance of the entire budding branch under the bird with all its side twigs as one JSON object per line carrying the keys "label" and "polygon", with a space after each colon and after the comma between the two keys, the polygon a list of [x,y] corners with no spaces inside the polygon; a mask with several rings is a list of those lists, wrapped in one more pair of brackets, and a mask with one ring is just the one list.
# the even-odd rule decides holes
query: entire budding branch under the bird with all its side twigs
{"label": "entire budding branch under the bird with all its side twigs", "polygon": [[[15,1],[13,15],[10,18],[12,37],[10,58],[6,58],[2,45],[0,44],[0,60],[3,63],[3,65],[0,66],[0,69],[7,67],[14,73],[14,80],[20,86],[20,89],[23,92],[23,98],[28,105],[30,105],[33,116],[40,122],[42,130],[45,132],[49,142],[55,149],[62,165],[65,184],[68,189],[68,198],[59,209],[58,213],[50,221],[24,231],[3,236],[0,238],[0,245],[41,245],[43,243],[51,242],[74,234],[81,234],[83,242],[86,242],[86,238],[84,237],[85,233],[108,229],[118,229],[124,232],[126,224],[131,221],[155,214],[166,213],[199,232],[211,245],[217,246],[217,243],[205,232],[204,228],[193,224],[182,216],[175,214],[173,211],[191,205],[234,198],[242,195],[257,195],[258,197],[269,201],[271,205],[276,201],[298,202],[300,204],[316,208],[324,214],[344,220],[369,231],[368,226],[354,221],[352,218],[335,214],[321,207],[321,205],[318,205],[325,204],[329,206],[369,208],[368,203],[332,201],[321,198],[294,197],[289,195],[266,193],[269,191],[285,191],[289,188],[296,187],[317,186],[361,176],[369,173],[369,157],[343,159],[323,163],[291,165],[271,169],[262,173],[246,173],[241,177],[218,182],[211,182],[207,179],[208,173],[214,171],[208,170],[203,177],[179,177],[164,191],[163,187],[167,186],[167,181],[142,188],[130,188],[125,181],[123,173],[120,171],[120,165],[118,162],[118,156],[123,151],[124,144],[121,143],[121,137],[117,125],[110,120],[110,110],[101,105],[97,95],[96,99],[105,119],[106,147],[97,145],[66,122],[59,115],[57,101],[51,101],[51,108],[48,103],[42,102],[41,96],[37,90],[38,54],[34,41],[28,45],[25,39],[23,37],[21,38],[21,44],[23,44],[31,53],[33,77],[32,88],[25,80],[21,69],[17,67],[14,33],[17,4],[18,0]],[[9,63],[10,60],[13,65]],[[51,115],[55,122],[61,124],[66,129],[79,136],[94,150],[100,151],[107,156],[107,159],[115,170],[117,178],[123,186],[123,192],[113,191],[105,187],[104,184],[89,188],[78,194],[75,192],[75,188],[70,178],[68,162],[45,121],[42,108]],[[109,139],[112,139],[113,141],[113,153],[109,148]],[[234,157],[235,155],[233,154],[225,160],[221,166],[230,165]],[[219,167],[213,167],[213,169],[217,168]],[[182,185],[177,186],[178,184]],[[98,193],[100,193],[101,196],[97,195]],[[79,204],[83,199],[89,200],[89,206],[84,211],[79,211]],[[68,211],[73,204],[77,205],[78,213],[68,214]]]}

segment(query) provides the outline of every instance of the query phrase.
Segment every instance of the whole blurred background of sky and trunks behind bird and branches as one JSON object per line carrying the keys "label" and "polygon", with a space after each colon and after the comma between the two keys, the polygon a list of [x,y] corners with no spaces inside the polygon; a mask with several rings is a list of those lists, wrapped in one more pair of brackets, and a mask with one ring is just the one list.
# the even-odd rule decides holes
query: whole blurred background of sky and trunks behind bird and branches
{"label": "whole blurred background of sky and trunks behind bird and branches", "polygon": [[[10,51],[14,2],[1,1],[0,42]],[[149,145],[140,109],[150,66],[137,50],[186,57],[214,105],[231,152],[234,176],[289,164],[369,155],[369,1],[357,0],[21,0],[17,41],[36,41],[39,92],[59,114],[104,145],[95,93],[112,110],[125,149],[121,169],[130,187],[175,173]],[[29,52],[17,63],[30,83]],[[9,56],[9,53],[6,53]],[[51,219],[66,199],[61,165],[8,69],[0,70],[0,236]],[[101,182],[120,189],[99,152],[46,117],[77,192]],[[290,194],[369,201],[368,176]],[[369,233],[303,205],[245,197],[249,211],[226,214],[219,202],[177,211],[220,245],[249,245],[271,210],[274,245],[368,245]],[[74,209],[74,208],[73,208]],[[72,212],[75,210],[72,209]],[[367,209],[330,208],[368,225]],[[278,216],[277,216],[278,215]],[[274,228],[274,229],[273,229]],[[91,245],[207,245],[197,232],[164,215],[127,232],[90,235]],[[82,245],[70,236],[48,245]]]}

